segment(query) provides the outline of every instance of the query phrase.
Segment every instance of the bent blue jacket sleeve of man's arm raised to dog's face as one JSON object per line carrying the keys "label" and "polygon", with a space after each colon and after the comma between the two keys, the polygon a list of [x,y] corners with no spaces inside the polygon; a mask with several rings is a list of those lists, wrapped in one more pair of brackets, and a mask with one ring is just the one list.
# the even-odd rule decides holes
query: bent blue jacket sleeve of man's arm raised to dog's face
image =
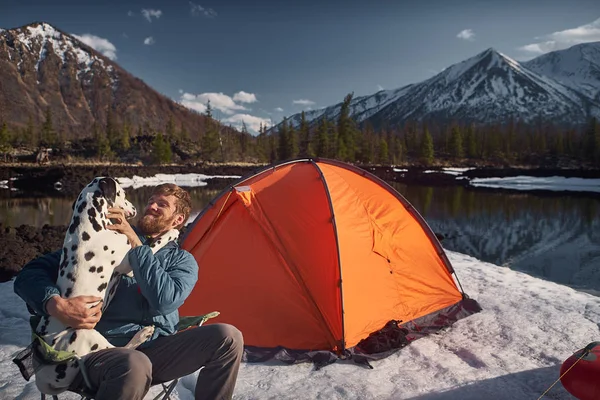
{"label": "bent blue jacket sleeve of man's arm raised to dog's face", "polygon": [[177,310],[198,280],[198,264],[187,251],[179,251],[170,265],[162,265],[149,246],[129,251],[129,263],[152,311],[166,315]]}

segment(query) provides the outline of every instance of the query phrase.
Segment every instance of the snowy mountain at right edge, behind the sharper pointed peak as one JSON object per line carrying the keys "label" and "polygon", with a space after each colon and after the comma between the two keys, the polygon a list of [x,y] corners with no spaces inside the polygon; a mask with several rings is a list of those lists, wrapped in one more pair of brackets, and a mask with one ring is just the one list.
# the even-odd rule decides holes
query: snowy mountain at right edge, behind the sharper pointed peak
{"label": "snowy mountain at right edge, behind the sharper pointed peak", "polygon": [[600,101],[600,42],[554,51],[522,65]]}

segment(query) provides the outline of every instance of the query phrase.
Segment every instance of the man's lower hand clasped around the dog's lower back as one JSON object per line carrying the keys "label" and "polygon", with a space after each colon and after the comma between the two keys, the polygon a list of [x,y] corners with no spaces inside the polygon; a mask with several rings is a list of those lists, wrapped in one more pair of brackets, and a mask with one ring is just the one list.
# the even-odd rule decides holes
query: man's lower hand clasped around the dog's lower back
{"label": "man's lower hand clasped around the dog's lower back", "polygon": [[77,296],[63,299],[54,296],[46,303],[46,311],[71,328],[93,329],[102,316],[102,298]]}

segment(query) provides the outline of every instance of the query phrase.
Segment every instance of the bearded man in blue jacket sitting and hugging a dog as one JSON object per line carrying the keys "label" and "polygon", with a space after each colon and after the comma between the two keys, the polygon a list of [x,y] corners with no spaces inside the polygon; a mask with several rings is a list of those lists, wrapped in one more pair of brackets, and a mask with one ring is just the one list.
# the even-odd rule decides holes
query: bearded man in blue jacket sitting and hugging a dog
{"label": "bearded man in blue jacket sitting and hugging a dog", "polygon": [[[134,277],[122,276],[117,292],[101,315],[102,300],[93,296],[62,298],[55,285],[60,251],[29,262],[15,279],[15,292],[38,315],[64,324],[96,329],[115,346],[125,345],[142,326],[154,325],[149,342],[137,350],[122,347],[97,351],[86,359],[95,399],[142,399],[153,384],[182,377],[204,367],[196,382],[196,399],[229,399],[233,395],[243,352],[239,330],[211,324],[175,332],[177,309],[192,291],[198,265],[193,256],[170,242],[152,254],[152,240],[181,229],[191,211],[190,195],[177,185],[157,186],[138,223],[139,234],[123,210],[109,209],[110,226],[129,239]],[[101,318],[102,317],[102,318]],[[81,374],[71,389],[84,387]]]}

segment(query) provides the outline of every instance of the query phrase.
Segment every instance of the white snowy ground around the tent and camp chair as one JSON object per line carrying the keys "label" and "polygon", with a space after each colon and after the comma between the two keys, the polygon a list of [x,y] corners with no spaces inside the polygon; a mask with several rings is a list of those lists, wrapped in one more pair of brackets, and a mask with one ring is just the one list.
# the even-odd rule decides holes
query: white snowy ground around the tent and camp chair
{"label": "white snowy ground around the tent and camp chair", "polygon": [[[319,371],[310,364],[243,363],[235,398],[537,399],[566,358],[600,340],[599,297],[448,254],[482,312],[373,362],[373,370],[349,363]],[[28,314],[11,282],[0,284],[0,318],[0,399],[38,399],[35,383],[25,382],[11,362],[29,343]],[[184,377],[175,398],[193,399],[194,383],[194,375]],[[543,399],[573,397],[559,383]]]}

